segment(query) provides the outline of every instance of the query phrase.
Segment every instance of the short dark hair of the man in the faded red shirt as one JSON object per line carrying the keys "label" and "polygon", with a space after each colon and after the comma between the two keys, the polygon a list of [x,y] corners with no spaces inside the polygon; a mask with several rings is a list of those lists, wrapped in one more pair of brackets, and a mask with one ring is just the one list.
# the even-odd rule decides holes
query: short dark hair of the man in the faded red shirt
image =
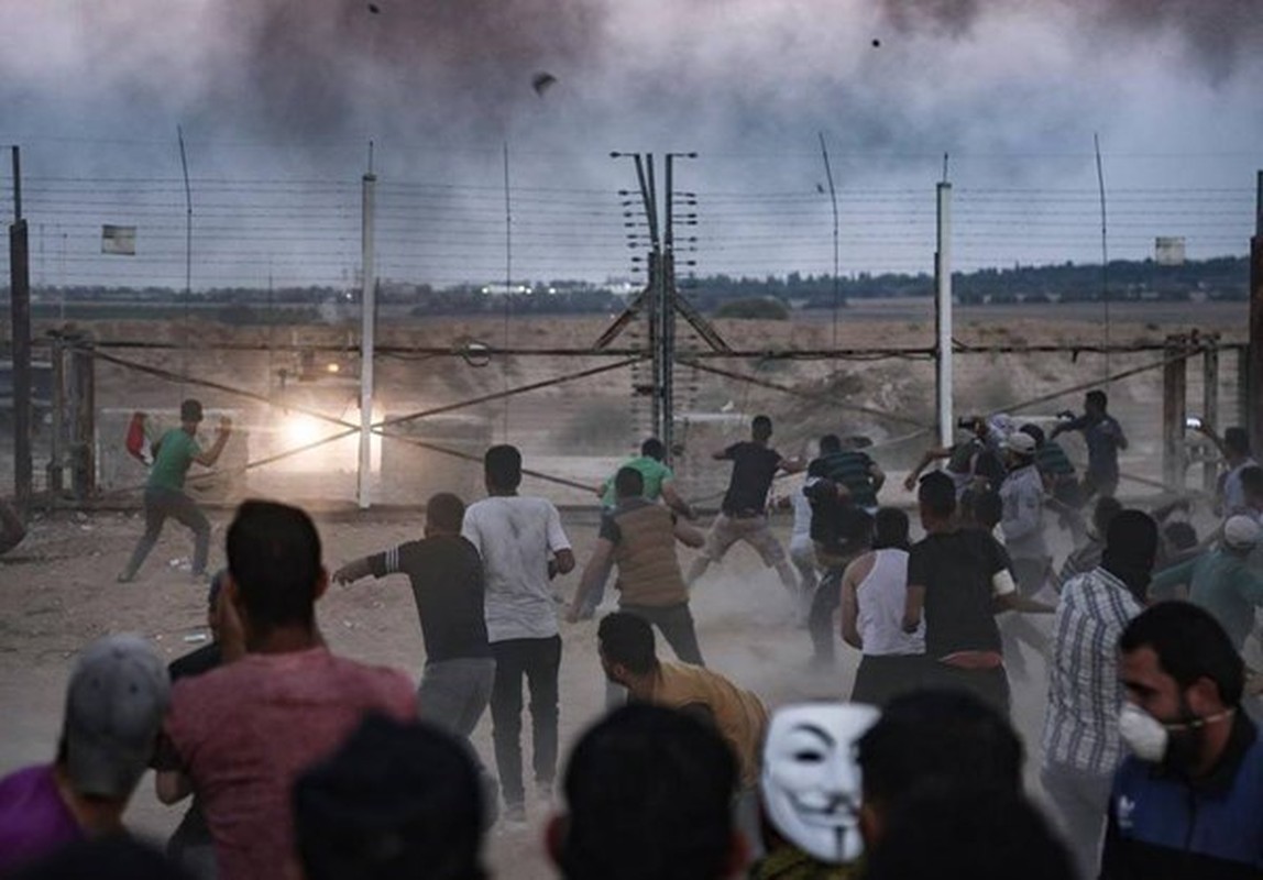
{"label": "short dark hair of the man in the faded red shirt", "polygon": [[225,544],[229,572],[253,627],[266,633],[312,622],[323,569],[311,516],[275,501],[244,501]]}

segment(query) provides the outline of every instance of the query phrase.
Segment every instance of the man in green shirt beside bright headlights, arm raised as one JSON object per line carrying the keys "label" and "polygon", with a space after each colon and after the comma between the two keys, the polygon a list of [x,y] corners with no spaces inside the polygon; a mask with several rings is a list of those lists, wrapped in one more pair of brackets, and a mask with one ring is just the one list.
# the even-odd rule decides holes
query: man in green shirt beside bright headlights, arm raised
{"label": "man in green shirt beside bright headlights, arm raised", "polygon": [[145,557],[158,543],[163,523],[168,516],[187,525],[193,532],[193,577],[206,573],[206,557],[211,544],[211,524],[197,502],[184,494],[184,477],[196,461],[211,467],[224,452],[232,433],[232,420],[224,417],[215,436],[215,443],[206,452],[197,444],[197,425],[202,422],[200,400],[186,400],[179,405],[179,427],[172,428],[158,441],[154,463],[145,482],[145,533],[136,542],[128,567],[119,574],[119,583],[134,581]]}

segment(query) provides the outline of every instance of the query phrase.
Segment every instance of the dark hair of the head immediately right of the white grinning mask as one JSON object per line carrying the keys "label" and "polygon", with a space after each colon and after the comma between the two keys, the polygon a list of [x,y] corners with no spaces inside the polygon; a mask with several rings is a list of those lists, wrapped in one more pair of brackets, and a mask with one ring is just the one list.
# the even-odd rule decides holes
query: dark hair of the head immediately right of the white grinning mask
{"label": "dark hair of the head immediately right of the white grinning mask", "polygon": [[1004,716],[965,691],[895,697],[860,737],[856,758],[864,799],[883,809],[935,780],[1022,790],[1022,741]]}

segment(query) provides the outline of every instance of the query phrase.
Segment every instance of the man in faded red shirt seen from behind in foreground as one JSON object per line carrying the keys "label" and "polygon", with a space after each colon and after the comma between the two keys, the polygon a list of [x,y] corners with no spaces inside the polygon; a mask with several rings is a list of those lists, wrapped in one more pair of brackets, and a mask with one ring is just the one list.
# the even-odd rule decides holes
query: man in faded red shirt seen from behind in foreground
{"label": "man in faded red shirt seen from behind in foreground", "polygon": [[328,586],[306,513],[246,501],[227,533],[227,597],[246,655],[172,691],[158,798],[192,792],[206,812],[221,880],[298,880],[290,787],[371,711],[416,717],[403,673],[335,657],[316,627]]}

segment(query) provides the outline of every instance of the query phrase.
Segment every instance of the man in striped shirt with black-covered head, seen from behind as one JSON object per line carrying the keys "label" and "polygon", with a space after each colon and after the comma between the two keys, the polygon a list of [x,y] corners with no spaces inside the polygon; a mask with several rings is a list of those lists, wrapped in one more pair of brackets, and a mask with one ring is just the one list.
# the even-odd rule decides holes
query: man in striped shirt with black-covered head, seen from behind
{"label": "man in striped shirt with black-covered head, seen from behind", "polygon": [[1157,548],[1148,514],[1119,513],[1100,566],[1066,583],[1057,605],[1039,775],[1080,877],[1096,876],[1110,783],[1123,760],[1118,639],[1143,609]]}

